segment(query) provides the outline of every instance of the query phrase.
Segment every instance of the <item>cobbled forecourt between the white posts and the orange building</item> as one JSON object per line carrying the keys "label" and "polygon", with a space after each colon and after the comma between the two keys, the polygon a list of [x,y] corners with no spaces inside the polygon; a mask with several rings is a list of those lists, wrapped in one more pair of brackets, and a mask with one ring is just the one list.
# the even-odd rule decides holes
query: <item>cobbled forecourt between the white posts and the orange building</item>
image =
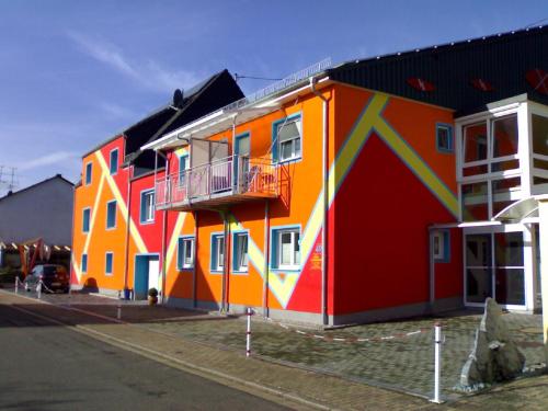
{"label": "cobbled forecourt between the white posts and the orange building", "polygon": [[[110,318],[116,317],[117,305],[121,304],[115,299],[87,295],[45,295],[44,299],[62,305],[68,305],[70,299],[72,308]],[[127,301],[122,302],[122,318],[160,335],[170,335],[180,341],[199,343],[202,346],[217,351],[221,349],[222,352],[229,351],[238,355],[244,353],[244,318],[220,317],[159,306],[148,307]],[[460,368],[470,352],[480,318],[479,313],[461,312],[439,319],[415,319],[318,331],[285,329],[255,317],[252,322],[252,352],[255,358],[269,359],[271,364],[289,364],[302,370],[320,370],[323,375],[341,376],[346,380],[430,398],[434,368],[432,331],[435,321],[439,320],[446,338],[443,346],[443,397],[448,400],[459,399],[460,404],[461,401],[466,402],[468,397],[454,391],[453,387],[458,383]],[[540,316],[507,313],[504,318],[526,356],[526,365],[540,364],[544,361]],[[323,339],[307,336],[296,332],[297,330]],[[407,333],[413,334],[401,335]],[[395,335],[397,338],[380,340]],[[378,341],[358,342],[359,339]],[[502,391],[500,396],[504,397]]]}

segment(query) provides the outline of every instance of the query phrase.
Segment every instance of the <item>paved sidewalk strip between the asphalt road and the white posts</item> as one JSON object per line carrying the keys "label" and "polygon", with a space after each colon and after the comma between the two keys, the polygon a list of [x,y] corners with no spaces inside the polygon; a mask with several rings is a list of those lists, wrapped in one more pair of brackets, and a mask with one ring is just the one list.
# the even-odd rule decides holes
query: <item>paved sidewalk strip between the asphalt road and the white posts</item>
{"label": "paved sidewalk strip between the asphalt road and the white posts", "polygon": [[[54,299],[57,304],[67,305],[66,298],[68,299],[66,296],[45,296],[45,299]],[[293,407],[300,404],[306,408],[317,404],[324,409],[368,410],[490,409],[493,407],[492,409],[498,410],[522,408],[544,410],[548,404],[548,390],[546,389],[548,376],[517,380],[500,386],[484,395],[463,398],[444,406],[435,406],[421,398],[357,384],[328,373],[313,373],[302,367],[288,367],[259,357],[246,358],[243,350],[233,349],[238,344],[244,344],[244,334],[241,332],[244,322],[240,319],[125,302],[122,308],[123,320],[134,324],[116,323],[102,316],[115,318],[118,301],[79,295],[73,295],[70,299],[71,310],[32,301],[13,294],[0,294],[1,304],[11,304],[55,318],[64,323],[76,326],[80,331],[101,340],[129,347],[132,351],[171,365],[176,364],[183,368],[190,368],[202,375],[224,380],[225,384],[250,389],[254,393],[262,390],[270,395],[284,395],[293,401]],[[83,311],[92,311],[94,316]],[[253,329],[256,330],[254,334],[258,334],[254,335],[254,344],[260,342],[262,332],[272,333],[273,327],[270,323],[254,321]],[[227,329],[237,331],[227,334]],[[225,330],[225,334],[219,338],[216,335],[216,330]],[[287,344],[292,343],[290,339],[297,336],[300,344],[308,344],[309,349],[317,350],[315,339],[293,335],[295,333],[281,330],[279,335],[283,336],[284,341],[277,346],[272,346],[272,351],[290,351],[292,347]],[[204,333],[207,332],[210,336],[209,340],[204,339]],[[355,331],[353,332],[355,333]],[[222,334],[222,332],[220,333]],[[227,343],[227,335],[229,339],[237,338],[238,344]],[[285,341],[288,338],[289,341]],[[272,344],[273,339],[263,335],[263,340],[270,341]],[[222,341],[225,341],[225,345],[220,344]],[[342,351],[339,354],[344,354],[344,350],[349,350],[349,345],[345,344],[338,349]],[[377,345],[377,347],[381,350],[383,346]],[[320,354],[326,355],[326,353]],[[412,354],[408,355],[412,356]],[[302,365],[302,361],[296,359],[297,365]],[[362,358],[359,359],[362,361]],[[355,363],[356,358],[351,357],[347,361]]]}

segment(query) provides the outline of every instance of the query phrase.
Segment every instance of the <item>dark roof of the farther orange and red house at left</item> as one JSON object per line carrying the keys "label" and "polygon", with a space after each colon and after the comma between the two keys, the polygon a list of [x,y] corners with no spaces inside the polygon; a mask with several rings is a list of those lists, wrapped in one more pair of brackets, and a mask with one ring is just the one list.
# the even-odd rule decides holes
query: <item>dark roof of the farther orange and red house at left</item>
{"label": "dark roof of the farther orange and red house at left", "polygon": [[[204,94],[212,94],[208,99],[204,99]],[[233,80],[228,70],[219,71],[209,78],[201,81],[187,90],[183,90],[183,100],[175,107],[173,102],[159,107],[144,118],[134,123],[123,132],[117,133],[107,140],[95,146],[82,157],[96,151],[112,140],[125,136],[126,138],[126,157],[134,160],[140,155],[140,147],[145,144],[159,138],[162,134],[170,132],[176,127],[196,119],[198,116],[205,115],[208,112],[215,111],[226,104],[243,98],[243,93]],[[205,102],[203,100],[206,100]],[[198,107],[197,107],[198,106]],[[204,112],[205,110],[205,112]],[[195,112],[199,112],[195,116]],[[183,114],[186,113],[186,114]]]}

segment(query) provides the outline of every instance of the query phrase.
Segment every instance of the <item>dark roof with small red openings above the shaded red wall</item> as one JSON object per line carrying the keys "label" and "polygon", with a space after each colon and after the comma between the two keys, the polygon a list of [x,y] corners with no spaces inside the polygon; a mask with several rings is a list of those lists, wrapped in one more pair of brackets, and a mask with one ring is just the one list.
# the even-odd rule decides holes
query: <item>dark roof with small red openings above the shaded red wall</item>
{"label": "dark roof with small red openings above the shaded red wall", "polygon": [[[526,73],[533,69],[548,71],[548,26],[347,61],[327,73],[335,81],[465,114],[524,93],[548,104],[548,95],[526,80]],[[418,79],[430,83],[433,90],[413,88],[411,83]],[[473,82],[477,85],[478,80],[492,90],[476,88]]]}

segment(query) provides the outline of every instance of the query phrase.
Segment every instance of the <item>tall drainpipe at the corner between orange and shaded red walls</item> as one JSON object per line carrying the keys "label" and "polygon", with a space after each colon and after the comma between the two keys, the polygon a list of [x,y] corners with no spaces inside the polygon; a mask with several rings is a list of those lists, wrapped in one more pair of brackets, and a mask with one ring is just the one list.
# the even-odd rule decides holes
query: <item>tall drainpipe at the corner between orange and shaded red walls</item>
{"label": "tall drainpipe at the corner between orange and shaded red walls", "polygon": [[321,318],[323,326],[329,323],[328,318],[328,213],[329,213],[329,193],[328,193],[328,175],[329,175],[329,136],[328,136],[328,113],[329,113],[329,99],[324,98],[318,90],[316,90],[316,84],[318,78],[310,78],[310,91],[321,99],[322,101],[322,196],[323,196],[323,219],[321,222]]}

